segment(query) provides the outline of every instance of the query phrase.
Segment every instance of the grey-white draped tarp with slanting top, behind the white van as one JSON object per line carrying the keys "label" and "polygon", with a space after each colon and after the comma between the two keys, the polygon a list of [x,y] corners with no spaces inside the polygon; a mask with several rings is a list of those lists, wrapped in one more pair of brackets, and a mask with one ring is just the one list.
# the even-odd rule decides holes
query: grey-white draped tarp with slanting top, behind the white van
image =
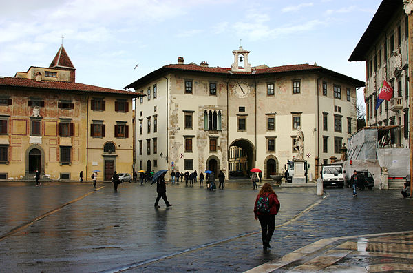
{"label": "grey-white draped tarp with slanting top, behind the white van", "polygon": [[348,160],[376,161],[377,129],[364,129],[354,134],[347,144]]}

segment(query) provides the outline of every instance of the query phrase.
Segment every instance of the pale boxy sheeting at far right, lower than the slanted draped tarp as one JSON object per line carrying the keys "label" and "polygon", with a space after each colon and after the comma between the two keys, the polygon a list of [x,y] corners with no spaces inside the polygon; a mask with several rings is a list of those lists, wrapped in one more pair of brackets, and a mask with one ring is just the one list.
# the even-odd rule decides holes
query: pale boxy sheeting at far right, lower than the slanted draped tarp
{"label": "pale boxy sheeting at far right, lower than the slanted draped tarp", "polygon": [[410,174],[410,150],[407,148],[377,149],[381,167],[388,168],[389,177],[405,177]]}

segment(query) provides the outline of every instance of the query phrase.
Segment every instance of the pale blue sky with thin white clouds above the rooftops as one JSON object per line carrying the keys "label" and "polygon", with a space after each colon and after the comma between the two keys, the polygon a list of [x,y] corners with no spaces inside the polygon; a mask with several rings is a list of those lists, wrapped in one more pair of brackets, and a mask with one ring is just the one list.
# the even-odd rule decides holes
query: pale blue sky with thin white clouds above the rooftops
{"label": "pale blue sky with thin white clouds above the rooftops", "polygon": [[[381,0],[0,0],[0,77],[48,67],[62,43],[76,82],[123,89],[163,65],[308,63],[366,81],[348,62]],[[136,66],[138,65],[138,66]],[[362,90],[358,101],[363,101]]]}

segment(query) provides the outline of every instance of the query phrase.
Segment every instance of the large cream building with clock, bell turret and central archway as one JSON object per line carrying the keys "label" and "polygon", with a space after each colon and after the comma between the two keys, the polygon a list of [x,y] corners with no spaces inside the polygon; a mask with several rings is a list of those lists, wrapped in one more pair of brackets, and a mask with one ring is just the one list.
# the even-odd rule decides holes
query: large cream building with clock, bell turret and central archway
{"label": "large cream building with clock, bell turret and central archway", "polygon": [[147,95],[136,100],[140,168],[222,170],[229,177],[237,147],[246,160],[241,170],[260,168],[269,178],[297,156],[300,126],[313,176],[317,157],[339,157],[341,143],[357,131],[356,88],[364,83],[318,65],[253,67],[248,54],[234,50],[231,68],[179,57],[125,87]]}

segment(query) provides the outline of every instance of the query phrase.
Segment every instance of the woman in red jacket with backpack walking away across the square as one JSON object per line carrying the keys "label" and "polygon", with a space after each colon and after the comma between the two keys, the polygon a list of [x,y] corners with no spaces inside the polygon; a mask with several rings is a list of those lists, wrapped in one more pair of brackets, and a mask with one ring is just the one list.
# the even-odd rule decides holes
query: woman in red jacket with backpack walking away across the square
{"label": "woman in red jacket with backpack walking away across the square", "polygon": [[262,185],[254,205],[255,220],[260,220],[264,250],[271,248],[270,241],[275,229],[275,215],[279,210],[278,196],[269,183]]}

